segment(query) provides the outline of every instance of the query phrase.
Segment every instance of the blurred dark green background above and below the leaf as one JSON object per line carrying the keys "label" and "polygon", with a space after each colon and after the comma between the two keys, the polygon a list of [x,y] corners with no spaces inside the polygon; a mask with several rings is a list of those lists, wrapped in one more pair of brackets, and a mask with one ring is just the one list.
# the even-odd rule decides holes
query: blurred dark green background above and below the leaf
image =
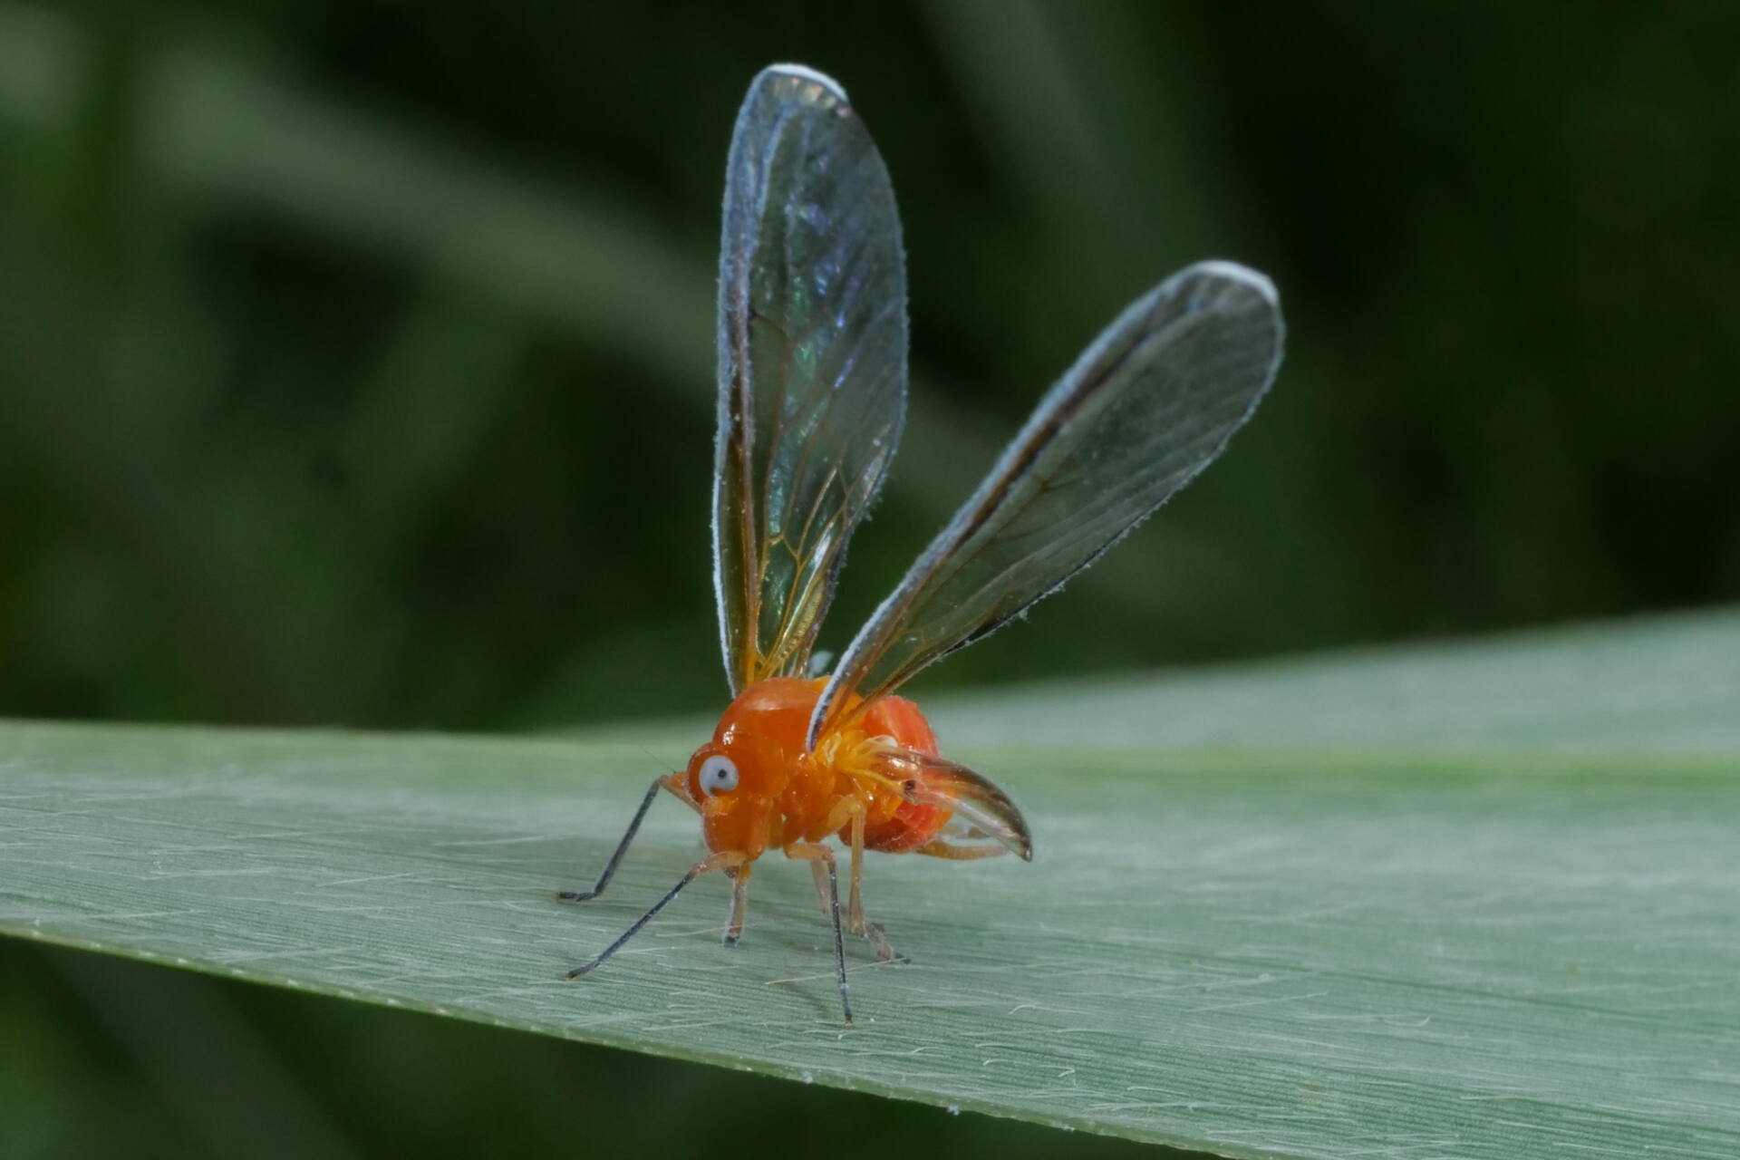
{"label": "blurred dark green background above and below the leaf", "polygon": [[[1733,5],[0,2],[0,713],[717,708],[719,198],[785,59],[877,136],[912,285],[823,647],[1199,257],[1281,287],[1258,419],[919,692],[1740,591]],[[12,1155],[1122,1148],[16,946],[0,979]]]}

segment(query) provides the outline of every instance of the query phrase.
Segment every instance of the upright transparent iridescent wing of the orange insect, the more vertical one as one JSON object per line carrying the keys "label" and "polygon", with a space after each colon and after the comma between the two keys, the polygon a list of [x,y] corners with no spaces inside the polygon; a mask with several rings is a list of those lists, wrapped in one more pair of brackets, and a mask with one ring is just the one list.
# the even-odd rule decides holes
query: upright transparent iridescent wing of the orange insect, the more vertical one
{"label": "upright transparent iridescent wing of the orange insect, the more vertical one", "polygon": [[894,191],[846,92],[776,64],[731,137],[713,586],[733,694],[802,677],[907,398]]}

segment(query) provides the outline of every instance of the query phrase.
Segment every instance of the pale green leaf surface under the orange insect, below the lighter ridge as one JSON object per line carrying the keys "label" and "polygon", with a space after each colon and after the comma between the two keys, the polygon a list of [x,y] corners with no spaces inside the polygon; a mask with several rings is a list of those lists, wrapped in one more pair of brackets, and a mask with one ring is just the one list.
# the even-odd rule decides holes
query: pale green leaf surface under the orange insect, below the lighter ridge
{"label": "pale green leaf surface under the orange insect, below the lighter ridge", "polygon": [[839,1024],[802,868],[719,946],[637,746],[0,727],[0,929],[1228,1157],[1733,1155],[1726,758],[978,750],[1039,856],[875,857]]}

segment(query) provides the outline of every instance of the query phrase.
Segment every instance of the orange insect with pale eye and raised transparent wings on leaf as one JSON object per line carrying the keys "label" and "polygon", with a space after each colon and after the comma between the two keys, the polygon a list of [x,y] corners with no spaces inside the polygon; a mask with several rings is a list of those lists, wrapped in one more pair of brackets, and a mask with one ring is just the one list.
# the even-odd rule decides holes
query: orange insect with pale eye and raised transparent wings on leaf
{"label": "orange insect with pale eye and raised transparent wings on leaf", "polygon": [[[1041,400],[832,675],[814,677],[846,541],[882,485],[907,400],[894,191],[830,78],[778,64],[750,85],[719,268],[713,583],[734,699],[689,767],[652,783],[593,887],[559,897],[604,892],[659,790],[701,816],[712,852],[567,977],[720,870],[734,944],[750,871],[780,850],[814,871],[851,1023],[842,927],[896,958],[865,918],[865,850],[1034,854],[1009,797],[941,757],[919,706],[894,690],[1060,588],[1206,468],[1281,365],[1281,308],[1268,278],[1234,263],[1188,266],[1136,299]],[[830,837],[851,852],[844,915]]]}

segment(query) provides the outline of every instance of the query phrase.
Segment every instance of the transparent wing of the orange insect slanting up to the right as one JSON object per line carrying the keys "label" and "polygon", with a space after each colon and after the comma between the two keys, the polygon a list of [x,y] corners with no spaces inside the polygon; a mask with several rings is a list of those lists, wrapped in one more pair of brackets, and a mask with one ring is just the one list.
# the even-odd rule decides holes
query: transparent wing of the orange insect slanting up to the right
{"label": "transparent wing of the orange insect slanting up to the right", "polygon": [[1188,483],[1281,365],[1275,289],[1201,263],[1136,299],[1082,351],[990,477],[840,656],[809,744],[1093,563]]}

